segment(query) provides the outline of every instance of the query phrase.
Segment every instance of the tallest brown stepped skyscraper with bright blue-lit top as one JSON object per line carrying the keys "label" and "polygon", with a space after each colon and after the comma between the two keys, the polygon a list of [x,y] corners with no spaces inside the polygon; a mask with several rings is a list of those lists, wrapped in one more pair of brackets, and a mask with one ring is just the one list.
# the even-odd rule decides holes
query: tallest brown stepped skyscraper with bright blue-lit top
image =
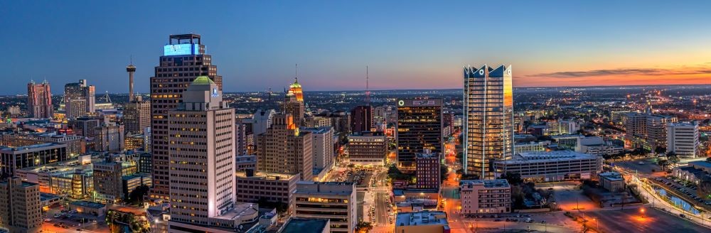
{"label": "tallest brown stepped skyscraper with bright blue-lit top", "polygon": [[222,77],[205,53],[201,36],[171,35],[164,46],[156,75],[151,77],[151,152],[153,153],[153,185],[151,197],[169,199],[168,112],[182,101],[183,91],[198,76],[207,76],[222,91]]}

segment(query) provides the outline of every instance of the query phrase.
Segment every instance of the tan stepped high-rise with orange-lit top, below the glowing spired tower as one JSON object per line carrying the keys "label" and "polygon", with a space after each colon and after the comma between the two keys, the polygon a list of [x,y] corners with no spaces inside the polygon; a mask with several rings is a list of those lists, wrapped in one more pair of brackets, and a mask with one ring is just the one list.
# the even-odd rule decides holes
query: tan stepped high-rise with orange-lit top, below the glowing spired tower
{"label": "tan stepped high-rise with orange-lit top, below the glowing spired tower", "polygon": [[257,170],[264,173],[300,173],[304,180],[314,177],[312,139],[299,131],[290,114],[275,114],[272,126],[255,136]]}

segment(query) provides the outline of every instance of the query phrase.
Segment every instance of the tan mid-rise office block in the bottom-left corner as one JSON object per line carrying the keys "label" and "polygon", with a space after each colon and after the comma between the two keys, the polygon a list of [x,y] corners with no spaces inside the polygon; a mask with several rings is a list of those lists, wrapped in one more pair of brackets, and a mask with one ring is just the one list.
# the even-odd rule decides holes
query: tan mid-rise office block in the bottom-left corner
{"label": "tan mid-rise office block in the bottom-left corner", "polygon": [[10,232],[38,232],[42,226],[39,185],[18,177],[0,182],[0,224]]}

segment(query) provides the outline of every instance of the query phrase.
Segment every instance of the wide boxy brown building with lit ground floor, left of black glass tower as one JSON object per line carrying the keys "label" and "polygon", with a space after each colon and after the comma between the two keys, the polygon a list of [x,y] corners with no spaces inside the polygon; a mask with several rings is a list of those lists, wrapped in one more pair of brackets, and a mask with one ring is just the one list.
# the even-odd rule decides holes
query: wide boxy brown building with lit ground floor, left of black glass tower
{"label": "wide boxy brown building with lit ground floor, left of black glass tower", "polygon": [[387,153],[387,139],[383,133],[353,134],[348,136],[348,158],[358,166],[383,166]]}

